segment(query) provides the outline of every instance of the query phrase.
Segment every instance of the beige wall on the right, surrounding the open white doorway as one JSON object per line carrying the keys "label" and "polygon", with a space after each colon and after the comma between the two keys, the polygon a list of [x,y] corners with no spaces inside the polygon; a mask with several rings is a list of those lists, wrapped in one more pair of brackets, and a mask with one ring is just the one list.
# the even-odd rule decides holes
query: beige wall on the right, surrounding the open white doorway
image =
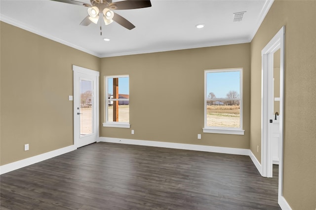
{"label": "beige wall on the right, surrounding the open white doorway", "polygon": [[[250,149],[260,160],[261,50],[285,25],[283,196],[316,208],[316,1],[275,1],[251,42]],[[260,151],[260,150],[259,150]]]}

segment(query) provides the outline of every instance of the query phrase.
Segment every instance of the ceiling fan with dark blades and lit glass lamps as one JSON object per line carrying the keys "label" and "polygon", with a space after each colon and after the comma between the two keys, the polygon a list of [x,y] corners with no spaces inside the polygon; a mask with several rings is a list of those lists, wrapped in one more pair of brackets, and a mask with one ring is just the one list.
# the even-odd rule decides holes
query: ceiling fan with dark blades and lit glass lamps
{"label": "ceiling fan with dark blades and lit glass lamps", "polygon": [[97,24],[100,16],[103,16],[105,25],[117,22],[119,25],[125,27],[128,30],[135,28],[135,26],[115,13],[113,10],[119,9],[139,9],[145,7],[151,7],[150,0],[122,0],[112,2],[112,0],[90,0],[91,4],[80,2],[77,0],[53,0],[64,3],[76,4],[88,7],[88,16],[86,16],[80,23],[81,26],[88,26],[91,22]]}

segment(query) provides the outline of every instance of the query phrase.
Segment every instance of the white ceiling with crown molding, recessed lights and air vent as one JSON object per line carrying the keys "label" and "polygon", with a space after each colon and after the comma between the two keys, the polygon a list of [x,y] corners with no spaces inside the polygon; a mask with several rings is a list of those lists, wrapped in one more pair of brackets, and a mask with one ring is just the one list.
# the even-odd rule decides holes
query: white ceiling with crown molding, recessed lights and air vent
{"label": "white ceiling with crown molding, recessed lights and air vent", "polygon": [[[89,2],[89,0],[79,0]],[[118,0],[113,0],[118,1]],[[0,0],[1,21],[98,57],[250,42],[272,0],[151,0],[152,7],[116,10],[116,22],[80,26],[87,7],[52,0]],[[246,11],[241,22],[233,13]],[[203,29],[195,26],[205,24]],[[110,38],[104,41],[103,38]]]}

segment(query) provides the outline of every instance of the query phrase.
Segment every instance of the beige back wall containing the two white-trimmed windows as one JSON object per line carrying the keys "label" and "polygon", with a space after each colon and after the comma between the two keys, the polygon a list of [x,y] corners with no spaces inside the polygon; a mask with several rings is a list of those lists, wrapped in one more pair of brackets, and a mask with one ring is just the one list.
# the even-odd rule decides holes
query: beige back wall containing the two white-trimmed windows
{"label": "beige back wall containing the two white-trimmed windows", "polygon": [[[101,127],[101,137],[249,148],[250,43],[103,58],[101,67],[101,122],[104,76],[129,74],[131,124]],[[243,68],[245,135],[203,134],[204,70],[227,68]]]}

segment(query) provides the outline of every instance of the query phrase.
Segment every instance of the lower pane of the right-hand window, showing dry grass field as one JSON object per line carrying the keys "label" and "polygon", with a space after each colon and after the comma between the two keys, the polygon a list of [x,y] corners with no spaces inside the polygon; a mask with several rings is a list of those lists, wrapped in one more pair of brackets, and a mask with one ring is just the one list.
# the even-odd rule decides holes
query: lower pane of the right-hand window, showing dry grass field
{"label": "lower pane of the right-hand window, showing dry grass field", "polygon": [[225,105],[224,103],[221,105],[206,105],[207,127],[240,127],[239,105]]}

